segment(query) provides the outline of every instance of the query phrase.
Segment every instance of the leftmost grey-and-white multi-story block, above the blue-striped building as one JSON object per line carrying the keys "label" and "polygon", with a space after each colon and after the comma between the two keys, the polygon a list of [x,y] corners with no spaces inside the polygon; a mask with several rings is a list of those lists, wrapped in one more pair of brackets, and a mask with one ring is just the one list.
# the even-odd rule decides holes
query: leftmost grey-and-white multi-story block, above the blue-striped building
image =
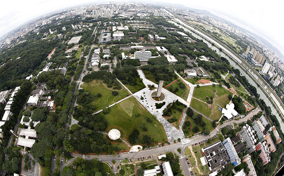
{"label": "leftmost grey-and-white multi-story block, above the blue-striped building", "polygon": [[243,129],[239,132],[242,140],[247,142],[247,148],[249,149],[249,153],[252,153],[255,150],[256,139],[254,138],[254,130],[251,126],[246,124]]}

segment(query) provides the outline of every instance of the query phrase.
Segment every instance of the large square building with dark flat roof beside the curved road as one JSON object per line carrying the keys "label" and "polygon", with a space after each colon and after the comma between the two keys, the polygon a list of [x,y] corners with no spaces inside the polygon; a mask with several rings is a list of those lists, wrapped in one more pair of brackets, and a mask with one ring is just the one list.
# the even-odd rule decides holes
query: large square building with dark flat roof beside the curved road
{"label": "large square building with dark flat roof beside the curved road", "polygon": [[223,169],[230,162],[227,150],[222,145],[221,141],[217,141],[204,148],[201,148],[209,170]]}

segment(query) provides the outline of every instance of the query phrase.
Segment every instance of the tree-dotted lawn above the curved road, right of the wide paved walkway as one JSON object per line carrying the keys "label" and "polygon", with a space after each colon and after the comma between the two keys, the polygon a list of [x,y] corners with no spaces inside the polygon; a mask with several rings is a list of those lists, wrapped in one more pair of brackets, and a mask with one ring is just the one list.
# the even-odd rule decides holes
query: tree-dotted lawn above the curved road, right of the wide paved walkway
{"label": "tree-dotted lawn above the curved road, right of the wide paved walkway", "polygon": [[[186,116],[185,117],[185,121],[190,121],[190,126],[185,126],[185,123],[182,126],[182,131],[184,132],[185,136],[190,136],[193,135],[194,132],[192,131],[192,129],[197,126],[199,128],[199,131],[196,133],[199,133],[200,131],[204,131],[206,129],[211,130],[213,128],[212,126],[212,122],[209,121],[208,119],[205,119],[204,117],[202,117],[203,121],[206,123],[205,126],[200,126],[199,124],[197,124],[191,117]],[[187,130],[189,132],[187,132]],[[187,133],[186,133],[187,132]]]}

